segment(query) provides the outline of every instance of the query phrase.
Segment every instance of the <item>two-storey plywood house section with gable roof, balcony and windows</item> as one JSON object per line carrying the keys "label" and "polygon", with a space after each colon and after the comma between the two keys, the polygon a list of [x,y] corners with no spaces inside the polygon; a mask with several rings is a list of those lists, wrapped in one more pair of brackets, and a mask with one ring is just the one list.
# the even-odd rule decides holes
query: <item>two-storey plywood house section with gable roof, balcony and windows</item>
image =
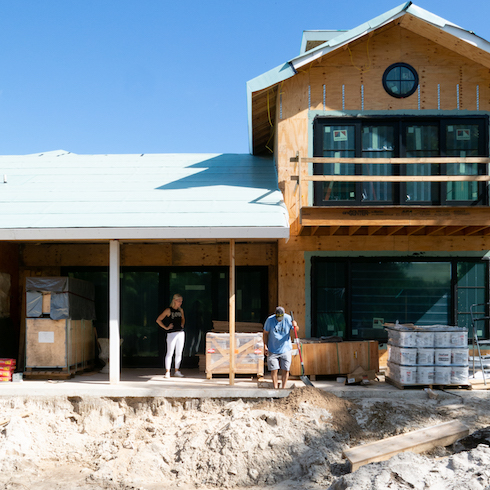
{"label": "two-storey plywood house section with gable roof, balcony and windows", "polygon": [[[278,297],[312,337],[470,326],[488,303],[490,44],[405,3],[248,83],[289,211]],[[488,335],[488,326],[480,334]]]}

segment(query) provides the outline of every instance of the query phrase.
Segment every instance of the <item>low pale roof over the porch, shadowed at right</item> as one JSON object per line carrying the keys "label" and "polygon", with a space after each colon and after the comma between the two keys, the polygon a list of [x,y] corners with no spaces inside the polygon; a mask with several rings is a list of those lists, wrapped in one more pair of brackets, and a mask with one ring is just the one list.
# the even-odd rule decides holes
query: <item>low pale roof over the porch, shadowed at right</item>
{"label": "low pale roof over the porch, shadowed at right", "polygon": [[1,240],[287,238],[271,159],[0,156]]}

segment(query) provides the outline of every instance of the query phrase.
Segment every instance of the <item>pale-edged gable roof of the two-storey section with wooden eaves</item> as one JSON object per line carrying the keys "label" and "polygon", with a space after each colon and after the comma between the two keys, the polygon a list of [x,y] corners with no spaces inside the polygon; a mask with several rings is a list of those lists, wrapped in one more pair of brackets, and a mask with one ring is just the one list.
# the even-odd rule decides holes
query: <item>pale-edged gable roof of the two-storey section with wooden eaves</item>
{"label": "pale-edged gable roof of the two-storey section with wooden eaves", "polygon": [[[490,68],[488,41],[472,31],[417,7],[412,2],[405,2],[348,31],[305,31],[298,56],[247,82],[250,153],[255,155],[267,153],[267,143],[272,131],[270,121],[275,119],[275,96],[278,84],[295,76],[300,68],[316,59],[336,52],[390,23],[398,23]],[[320,42],[322,40],[324,42]],[[310,47],[316,45],[307,49],[308,42]],[[264,101],[265,98],[268,99],[267,103]]]}

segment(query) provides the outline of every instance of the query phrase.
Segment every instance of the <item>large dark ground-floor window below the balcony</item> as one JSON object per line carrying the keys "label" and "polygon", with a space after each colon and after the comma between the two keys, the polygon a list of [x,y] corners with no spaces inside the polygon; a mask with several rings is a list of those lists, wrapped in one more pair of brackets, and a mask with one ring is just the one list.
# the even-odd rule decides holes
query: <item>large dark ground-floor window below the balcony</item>
{"label": "large dark ground-floor window below the balcony", "polygon": [[312,260],[312,335],[384,340],[383,324],[396,321],[470,327],[471,305],[488,301],[487,279],[487,263],[469,259],[317,257]]}

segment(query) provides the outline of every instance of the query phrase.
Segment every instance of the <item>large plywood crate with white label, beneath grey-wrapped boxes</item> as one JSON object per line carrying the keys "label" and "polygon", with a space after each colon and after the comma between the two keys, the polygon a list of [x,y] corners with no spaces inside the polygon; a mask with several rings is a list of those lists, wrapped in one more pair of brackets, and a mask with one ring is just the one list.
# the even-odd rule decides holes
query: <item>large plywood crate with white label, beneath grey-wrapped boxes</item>
{"label": "large plywood crate with white label, beneath grey-wrapped boxes", "polygon": [[94,364],[91,320],[26,319],[26,375],[71,376]]}

